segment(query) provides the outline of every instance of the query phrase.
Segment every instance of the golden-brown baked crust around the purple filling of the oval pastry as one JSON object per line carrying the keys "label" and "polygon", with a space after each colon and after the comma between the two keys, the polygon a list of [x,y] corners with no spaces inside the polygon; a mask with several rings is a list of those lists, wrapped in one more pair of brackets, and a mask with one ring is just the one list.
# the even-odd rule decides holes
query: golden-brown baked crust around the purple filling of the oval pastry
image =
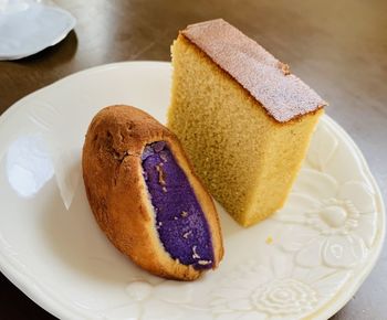
{"label": "golden-brown baked crust around the purple filling of the oval pastry", "polygon": [[174,260],[164,249],[143,179],[140,154],[164,140],[186,173],[211,230],[215,267],[223,255],[212,199],[192,172],[176,136],[146,113],[129,106],[102,109],[92,120],[83,147],[83,179],[95,218],[109,241],[144,269],[170,279],[201,274]]}

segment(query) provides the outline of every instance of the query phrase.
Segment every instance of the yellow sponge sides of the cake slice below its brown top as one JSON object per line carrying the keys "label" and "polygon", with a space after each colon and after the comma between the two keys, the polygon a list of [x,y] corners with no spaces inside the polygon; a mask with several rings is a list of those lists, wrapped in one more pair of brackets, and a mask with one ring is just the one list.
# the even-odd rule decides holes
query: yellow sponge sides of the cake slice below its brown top
{"label": "yellow sponge sides of the cake slice below its brown top", "polygon": [[171,51],[167,126],[237,222],[249,226],[265,218],[283,206],[323,109],[278,121],[184,33]]}

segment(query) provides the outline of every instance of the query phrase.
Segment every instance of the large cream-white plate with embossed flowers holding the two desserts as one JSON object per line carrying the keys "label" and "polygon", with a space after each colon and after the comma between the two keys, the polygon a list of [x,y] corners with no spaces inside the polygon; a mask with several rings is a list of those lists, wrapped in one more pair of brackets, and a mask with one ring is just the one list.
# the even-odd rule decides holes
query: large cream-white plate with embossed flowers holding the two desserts
{"label": "large cream-white plate with embossed flowers holding the two desserts", "polygon": [[61,319],[326,319],[355,294],[385,234],[380,192],[330,117],[314,135],[285,207],[250,227],[219,206],[226,256],[195,282],[138,269],[98,230],[80,156],[94,114],[135,105],[165,122],[170,65],[80,72],[0,118],[0,266]]}

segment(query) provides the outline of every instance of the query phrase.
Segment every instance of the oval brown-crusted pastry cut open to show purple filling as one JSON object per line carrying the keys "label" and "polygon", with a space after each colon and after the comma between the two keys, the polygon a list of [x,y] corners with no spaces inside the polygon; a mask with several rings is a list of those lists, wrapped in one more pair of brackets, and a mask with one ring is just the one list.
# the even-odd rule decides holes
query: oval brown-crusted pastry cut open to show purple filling
{"label": "oval brown-crusted pastry cut open to show purple filling", "polygon": [[130,106],[93,118],[82,156],[87,199],[109,241],[144,269],[194,280],[223,247],[213,202],[166,127]]}

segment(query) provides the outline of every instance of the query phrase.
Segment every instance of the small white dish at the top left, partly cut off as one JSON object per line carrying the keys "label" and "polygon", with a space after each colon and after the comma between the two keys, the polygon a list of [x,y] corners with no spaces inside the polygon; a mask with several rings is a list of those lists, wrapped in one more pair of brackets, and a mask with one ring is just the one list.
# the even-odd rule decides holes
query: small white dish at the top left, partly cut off
{"label": "small white dish at the top left, partly cut off", "polygon": [[35,54],[62,41],[75,25],[75,18],[57,7],[31,0],[1,2],[0,60]]}

